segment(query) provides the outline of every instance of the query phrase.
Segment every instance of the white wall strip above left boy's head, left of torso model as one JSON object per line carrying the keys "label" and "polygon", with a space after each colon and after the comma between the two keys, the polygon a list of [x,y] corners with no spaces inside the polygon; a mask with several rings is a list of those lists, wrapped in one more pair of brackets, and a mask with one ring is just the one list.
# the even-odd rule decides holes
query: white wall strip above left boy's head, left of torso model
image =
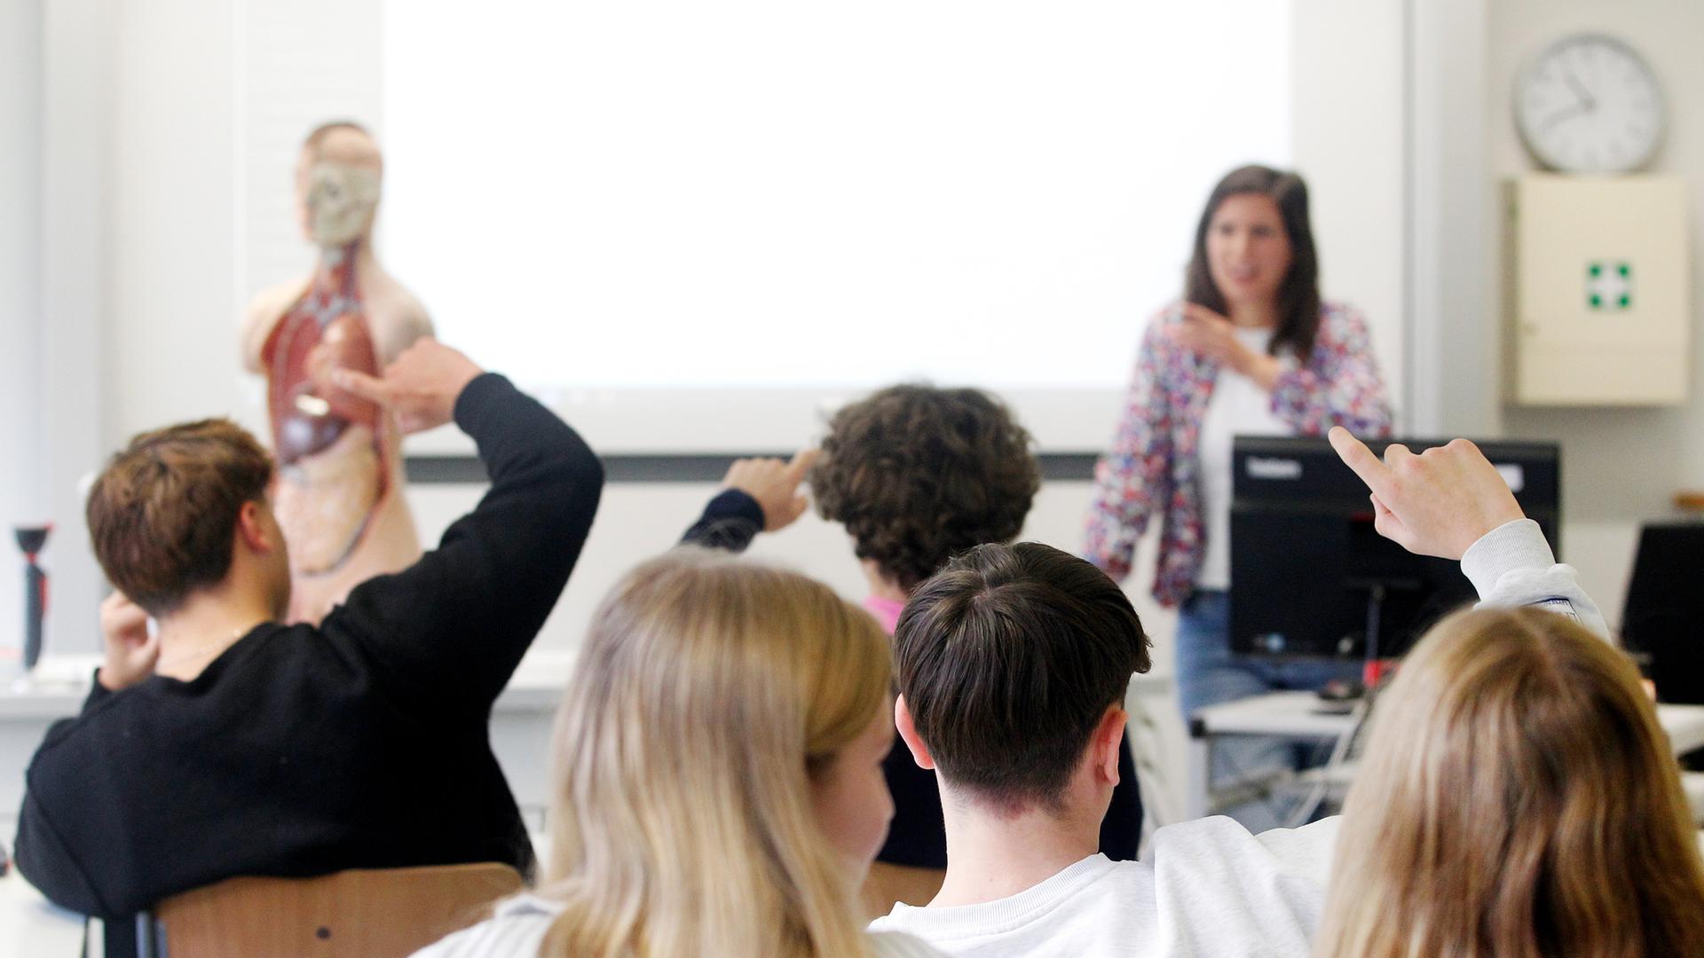
{"label": "white wall strip above left boy's head, left of torso model", "polygon": [[109,447],[239,407],[235,5],[118,3],[112,29]]}

